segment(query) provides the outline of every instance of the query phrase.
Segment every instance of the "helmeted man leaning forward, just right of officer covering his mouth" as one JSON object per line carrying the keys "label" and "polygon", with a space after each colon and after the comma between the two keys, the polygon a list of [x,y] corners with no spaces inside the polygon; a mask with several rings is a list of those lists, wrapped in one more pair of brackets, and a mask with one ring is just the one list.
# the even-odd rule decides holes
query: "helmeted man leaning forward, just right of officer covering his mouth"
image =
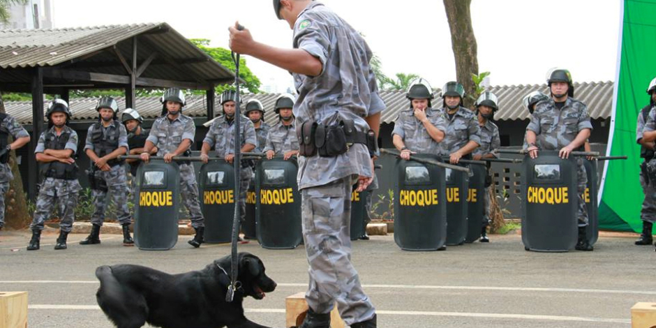
{"label": "helmeted man leaning forward, just right of officer covering his mouth", "polygon": [[461,158],[471,158],[471,153],[481,144],[481,129],[476,115],[463,107],[465,87],[458,82],[447,82],[442,88],[442,115],[446,120],[445,137],[440,142],[442,156],[457,164]]}

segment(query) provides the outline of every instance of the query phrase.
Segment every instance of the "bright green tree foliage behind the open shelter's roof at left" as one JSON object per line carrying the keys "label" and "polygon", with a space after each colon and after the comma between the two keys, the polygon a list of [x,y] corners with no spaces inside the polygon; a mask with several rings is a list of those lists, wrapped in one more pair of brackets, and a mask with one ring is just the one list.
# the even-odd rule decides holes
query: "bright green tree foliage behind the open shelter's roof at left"
{"label": "bright green tree foliage behind the open shelter's roof at left", "polygon": [[[209,57],[212,57],[214,60],[218,61],[219,64],[223,65],[225,68],[228,68],[230,72],[234,73],[235,67],[232,57],[230,57],[230,50],[224,49],[222,47],[209,47],[209,40],[205,38],[192,38],[189,39],[191,43],[200,48],[206,54],[209,54]],[[252,94],[258,94],[260,92],[260,80],[258,77],[253,75],[251,69],[246,66],[246,59],[241,57],[239,59],[239,77],[241,80],[244,80],[244,87],[248,89]],[[221,84],[216,87],[216,92],[221,94],[226,89],[233,89],[229,84]]]}

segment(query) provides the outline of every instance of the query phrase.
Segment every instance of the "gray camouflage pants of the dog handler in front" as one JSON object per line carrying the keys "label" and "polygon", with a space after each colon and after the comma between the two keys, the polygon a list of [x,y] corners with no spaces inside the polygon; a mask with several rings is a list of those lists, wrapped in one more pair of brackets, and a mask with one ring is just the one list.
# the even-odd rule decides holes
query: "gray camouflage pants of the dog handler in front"
{"label": "gray camouflage pants of the dog handler in front", "polygon": [[303,239],[310,281],[305,299],[316,313],[329,313],[335,301],[346,325],[373,318],[351,264],[351,177],[301,190]]}

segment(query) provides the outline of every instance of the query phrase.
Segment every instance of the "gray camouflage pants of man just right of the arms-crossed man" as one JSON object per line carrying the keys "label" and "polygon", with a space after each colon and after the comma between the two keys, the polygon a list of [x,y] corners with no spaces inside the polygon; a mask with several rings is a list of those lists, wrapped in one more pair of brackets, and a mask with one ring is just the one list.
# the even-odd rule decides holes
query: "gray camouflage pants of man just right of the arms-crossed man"
{"label": "gray camouflage pants of man just right of the arms-crossed man", "polygon": [[128,185],[127,175],[124,165],[114,165],[112,170],[104,172],[96,170],[94,173],[96,179],[102,179],[107,184],[108,191],[94,189],[91,194],[94,196],[94,207],[96,211],[91,216],[91,223],[103,225],[105,222],[105,212],[107,211],[107,192],[111,193],[114,206],[116,206],[116,217],[121,225],[131,224],[132,217],[128,209]]}

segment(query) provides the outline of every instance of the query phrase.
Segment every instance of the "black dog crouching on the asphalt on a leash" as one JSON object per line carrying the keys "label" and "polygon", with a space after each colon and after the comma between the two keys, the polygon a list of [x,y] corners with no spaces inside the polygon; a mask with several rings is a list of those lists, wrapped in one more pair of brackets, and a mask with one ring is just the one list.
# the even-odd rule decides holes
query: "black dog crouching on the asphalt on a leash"
{"label": "black dog crouching on the asphalt on a leash", "polygon": [[264,274],[260,258],[239,253],[234,299],[225,301],[230,285],[230,257],[200,271],[166,274],[133,264],[103,265],[96,269],[98,305],[118,328],[139,328],[146,322],[163,328],[267,328],[244,316],[241,302],[262,299],[276,283]]}

